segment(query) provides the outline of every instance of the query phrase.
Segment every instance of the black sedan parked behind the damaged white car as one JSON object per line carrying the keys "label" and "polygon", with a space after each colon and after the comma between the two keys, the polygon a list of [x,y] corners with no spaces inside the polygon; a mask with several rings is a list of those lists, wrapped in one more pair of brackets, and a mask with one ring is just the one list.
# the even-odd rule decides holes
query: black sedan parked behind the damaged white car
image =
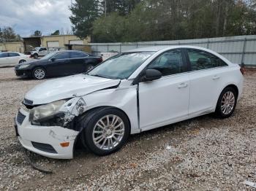
{"label": "black sedan parked behind the damaged white car", "polygon": [[83,73],[101,62],[101,57],[95,57],[87,52],[64,50],[51,52],[40,60],[20,63],[15,66],[15,72],[18,77],[44,79]]}

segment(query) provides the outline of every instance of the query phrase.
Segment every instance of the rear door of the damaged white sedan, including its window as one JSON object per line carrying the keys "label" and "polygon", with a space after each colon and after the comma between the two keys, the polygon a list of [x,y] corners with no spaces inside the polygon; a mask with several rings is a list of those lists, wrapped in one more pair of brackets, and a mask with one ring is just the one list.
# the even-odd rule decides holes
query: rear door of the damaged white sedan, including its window
{"label": "rear door of the damaged white sedan, including its window", "polygon": [[203,50],[187,49],[190,69],[189,115],[213,112],[227,63]]}

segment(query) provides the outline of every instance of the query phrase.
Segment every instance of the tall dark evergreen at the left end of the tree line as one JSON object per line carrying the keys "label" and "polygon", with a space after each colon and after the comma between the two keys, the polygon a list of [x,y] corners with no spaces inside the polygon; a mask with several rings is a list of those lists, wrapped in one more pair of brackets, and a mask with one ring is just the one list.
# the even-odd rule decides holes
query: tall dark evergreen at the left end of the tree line
{"label": "tall dark evergreen at the left end of the tree line", "polygon": [[72,23],[72,31],[81,39],[92,34],[92,25],[99,15],[99,1],[97,0],[75,0],[69,7],[72,15],[69,17]]}

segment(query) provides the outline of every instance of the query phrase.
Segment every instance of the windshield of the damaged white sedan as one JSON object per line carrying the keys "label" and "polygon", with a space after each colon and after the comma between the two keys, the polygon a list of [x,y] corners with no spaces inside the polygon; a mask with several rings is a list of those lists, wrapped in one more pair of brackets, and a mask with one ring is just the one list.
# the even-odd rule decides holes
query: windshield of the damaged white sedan
{"label": "windshield of the damaged white sedan", "polygon": [[110,79],[127,79],[154,52],[125,52],[109,58],[89,71],[89,75]]}

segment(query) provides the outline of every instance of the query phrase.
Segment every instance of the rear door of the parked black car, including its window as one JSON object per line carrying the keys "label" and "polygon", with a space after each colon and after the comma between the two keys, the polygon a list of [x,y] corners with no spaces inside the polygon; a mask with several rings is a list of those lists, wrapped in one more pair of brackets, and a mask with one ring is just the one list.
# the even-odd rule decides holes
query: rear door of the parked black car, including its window
{"label": "rear door of the parked black car, including its window", "polygon": [[72,71],[73,74],[85,72],[87,57],[89,57],[89,55],[84,52],[70,52],[70,71]]}

